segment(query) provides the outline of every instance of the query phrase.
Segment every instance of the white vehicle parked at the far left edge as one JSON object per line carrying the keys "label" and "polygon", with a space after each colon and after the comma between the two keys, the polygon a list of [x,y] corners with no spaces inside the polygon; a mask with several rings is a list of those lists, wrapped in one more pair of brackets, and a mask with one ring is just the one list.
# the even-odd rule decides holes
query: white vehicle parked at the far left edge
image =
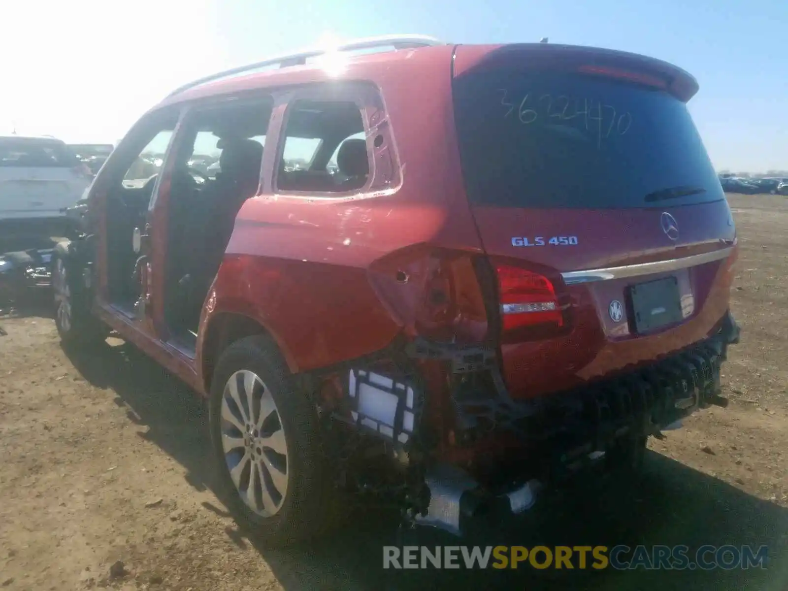
{"label": "white vehicle parked at the far left edge", "polygon": [[0,138],[0,220],[59,217],[90,175],[57,139]]}

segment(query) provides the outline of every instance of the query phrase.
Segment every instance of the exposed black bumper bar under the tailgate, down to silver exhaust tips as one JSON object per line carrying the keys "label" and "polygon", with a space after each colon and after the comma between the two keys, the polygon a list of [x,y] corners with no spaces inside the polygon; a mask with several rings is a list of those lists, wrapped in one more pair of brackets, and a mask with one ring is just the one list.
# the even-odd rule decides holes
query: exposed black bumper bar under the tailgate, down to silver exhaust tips
{"label": "exposed black bumper bar under the tailgate, down to silver exhaust tips", "polygon": [[[506,478],[483,485],[459,466],[440,463],[426,473],[429,504],[415,523],[463,533],[463,524],[485,508],[527,511],[537,494],[575,474],[604,465],[622,441],[661,437],[681,419],[709,405],[727,406],[719,370],[740,329],[728,312],[719,331],[701,343],[614,379],[576,392],[546,396],[523,409],[511,425],[524,443],[519,457],[497,470]],[[527,459],[526,459],[527,457]]]}

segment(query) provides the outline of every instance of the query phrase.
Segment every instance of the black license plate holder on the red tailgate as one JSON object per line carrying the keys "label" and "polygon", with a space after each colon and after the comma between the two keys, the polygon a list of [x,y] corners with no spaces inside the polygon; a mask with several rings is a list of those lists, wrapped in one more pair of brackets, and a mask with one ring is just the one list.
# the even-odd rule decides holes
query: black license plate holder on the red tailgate
{"label": "black license plate holder on the red tailgate", "polygon": [[684,319],[676,277],[634,284],[629,292],[636,333],[648,333]]}

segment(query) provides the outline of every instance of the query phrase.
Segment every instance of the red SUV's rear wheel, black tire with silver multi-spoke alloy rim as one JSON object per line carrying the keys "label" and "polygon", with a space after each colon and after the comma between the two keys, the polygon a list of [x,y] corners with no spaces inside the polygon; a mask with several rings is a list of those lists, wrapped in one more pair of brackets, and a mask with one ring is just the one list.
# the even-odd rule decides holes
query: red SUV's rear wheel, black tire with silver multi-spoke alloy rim
{"label": "red SUV's rear wheel, black tire with silver multi-spoke alloy rim", "polygon": [[[241,400],[250,389],[251,421],[248,398]],[[219,358],[210,388],[210,435],[217,492],[263,545],[307,541],[334,525],[337,496],[317,411],[294,387],[266,336],[238,340]]]}

